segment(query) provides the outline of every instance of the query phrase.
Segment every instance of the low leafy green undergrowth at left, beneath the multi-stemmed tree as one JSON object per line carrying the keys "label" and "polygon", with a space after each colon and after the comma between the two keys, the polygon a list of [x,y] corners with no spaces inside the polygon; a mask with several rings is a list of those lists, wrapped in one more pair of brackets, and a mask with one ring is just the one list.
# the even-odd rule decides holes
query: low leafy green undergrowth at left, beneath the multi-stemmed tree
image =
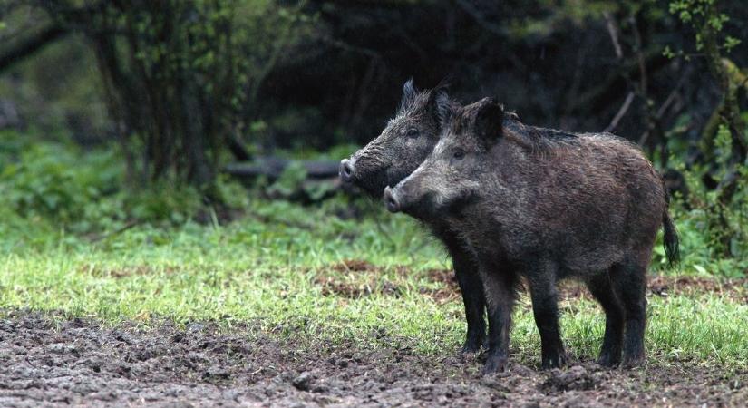
{"label": "low leafy green undergrowth at left, beneath the multi-stemmed tree", "polygon": [[[124,188],[121,151],[83,151],[69,142],[36,141],[0,133],[0,233],[46,242],[53,230],[106,235],[135,224],[180,225],[210,211],[197,189],[167,182],[150,189]],[[248,205],[247,191],[224,178],[215,196],[227,209]],[[34,229],[36,230],[34,233]]]}

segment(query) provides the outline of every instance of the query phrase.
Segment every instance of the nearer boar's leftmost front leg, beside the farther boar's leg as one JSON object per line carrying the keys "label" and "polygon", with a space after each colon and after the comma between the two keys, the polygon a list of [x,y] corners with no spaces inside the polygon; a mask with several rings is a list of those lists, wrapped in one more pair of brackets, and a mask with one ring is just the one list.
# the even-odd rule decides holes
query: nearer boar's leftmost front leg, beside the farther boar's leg
{"label": "nearer boar's leftmost front leg, beside the farther boar's leg", "polygon": [[480,267],[489,316],[489,351],[483,374],[502,372],[509,362],[511,308],[514,306],[515,277],[507,271]]}

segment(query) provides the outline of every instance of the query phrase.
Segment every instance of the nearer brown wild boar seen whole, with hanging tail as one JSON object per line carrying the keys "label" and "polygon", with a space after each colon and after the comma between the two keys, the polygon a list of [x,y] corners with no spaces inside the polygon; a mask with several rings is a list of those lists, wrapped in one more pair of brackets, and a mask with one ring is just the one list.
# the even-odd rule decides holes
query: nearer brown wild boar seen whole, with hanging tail
{"label": "nearer brown wild boar seen whole, with hanging tail", "polygon": [[667,193],[635,145],[505,121],[486,98],[453,112],[432,154],[384,200],[391,211],[441,217],[478,259],[489,316],[485,373],[505,369],[511,309],[526,277],[544,368],[565,363],[556,282],[578,277],[606,313],[599,363],[644,358],[646,268],[657,230],[675,262]]}

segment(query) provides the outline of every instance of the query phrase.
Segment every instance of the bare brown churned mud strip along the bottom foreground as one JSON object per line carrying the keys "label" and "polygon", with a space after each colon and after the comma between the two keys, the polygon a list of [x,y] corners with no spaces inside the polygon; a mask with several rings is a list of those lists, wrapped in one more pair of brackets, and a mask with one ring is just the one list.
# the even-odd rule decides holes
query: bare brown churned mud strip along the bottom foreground
{"label": "bare brown churned mud strip along the bottom foreground", "polygon": [[[0,319],[0,406],[745,406],[748,373],[657,363],[633,371],[514,363],[407,347],[278,343],[209,324],[104,327],[24,312]],[[517,360],[515,358],[515,360]]]}

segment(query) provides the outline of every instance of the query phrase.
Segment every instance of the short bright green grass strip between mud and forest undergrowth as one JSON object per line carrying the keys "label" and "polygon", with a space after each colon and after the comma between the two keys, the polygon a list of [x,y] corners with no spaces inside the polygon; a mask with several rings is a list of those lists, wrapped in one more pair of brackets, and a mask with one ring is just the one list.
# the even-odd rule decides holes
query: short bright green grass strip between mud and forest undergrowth
{"label": "short bright green grass strip between mud and forest undergrowth", "polygon": [[[162,318],[211,320],[227,329],[249,323],[272,335],[454,353],[464,330],[461,301],[433,296],[445,284],[429,272],[450,267],[442,250],[405,216],[335,216],[344,209],[340,200],[312,209],[255,201],[244,218],[225,226],[145,224],[94,239],[11,229],[0,237],[0,308],[62,311],[112,325]],[[346,259],[375,268],[339,267]],[[325,281],[364,295],[325,292]],[[587,298],[568,299],[562,310],[570,352],[593,358],[604,328],[599,307]],[[650,355],[725,368],[748,364],[744,302],[714,293],[652,296],[648,313]],[[526,296],[511,336],[520,359],[539,359]]]}

